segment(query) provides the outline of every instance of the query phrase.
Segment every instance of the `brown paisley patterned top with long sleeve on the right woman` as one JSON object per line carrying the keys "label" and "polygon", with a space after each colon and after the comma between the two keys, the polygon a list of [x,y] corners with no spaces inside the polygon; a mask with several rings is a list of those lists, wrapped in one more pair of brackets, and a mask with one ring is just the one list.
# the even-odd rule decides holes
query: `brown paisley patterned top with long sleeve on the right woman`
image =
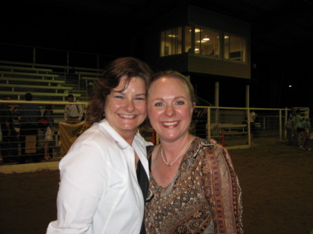
{"label": "brown paisley patterned top with long sleeve on the right woman", "polygon": [[243,233],[241,218],[241,188],[232,162],[208,140],[193,140],[168,187],[150,177],[147,233]]}

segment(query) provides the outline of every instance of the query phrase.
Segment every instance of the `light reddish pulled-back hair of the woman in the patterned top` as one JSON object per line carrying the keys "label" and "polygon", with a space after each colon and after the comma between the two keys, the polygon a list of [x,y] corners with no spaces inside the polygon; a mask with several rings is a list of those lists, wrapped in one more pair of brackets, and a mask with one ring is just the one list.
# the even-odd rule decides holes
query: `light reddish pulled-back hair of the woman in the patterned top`
{"label": "light reddish pulled-back hair of the woman in the patterned top", "polygon": [[167,71],[157,72],[156,74],[154,74],[154,76],[152,77],[151,84],[154,83],[154,81],[159,80],[159,78],[163,78],[163,77],[177,78],[180,81],[182,81],[188,89],[188,92],[189,92],[190,97],[191,97],[191,102],[192,103],[197,102],[197,99],[195,97],[195,91],[193,90],[193,85],[191,84],[189,78],[187,78],[186,76],[184,76],[183,74],[181,74],[179,72],[176,72],[173,70],[167,70]]}

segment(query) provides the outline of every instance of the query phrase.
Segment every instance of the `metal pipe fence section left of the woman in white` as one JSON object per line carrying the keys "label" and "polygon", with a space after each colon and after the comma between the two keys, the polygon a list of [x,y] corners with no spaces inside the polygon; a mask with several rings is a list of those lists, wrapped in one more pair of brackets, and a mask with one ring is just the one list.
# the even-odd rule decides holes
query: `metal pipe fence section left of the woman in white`
{"label": "metal pipe fence section left of the woman in white", "polygon": [[[35,104],[36,110],[20,110],[22,104]],[[0,152],[4,163],[41,162],[45,153],[54,160],[59,160],[60,135],[58,125],[64,122],[64,108],[66,104],[86,106],[87,102],[67,101],[0,101]],[[54,106],[51,115],[51,136],[47,140],[47,128],[49,124],[38,122],[44,118],[42,114],[47,106]],[[37,114],[38,113],[38,114]],[[24,116],[23,116],[24,115]],[[46,118],[50,121],[49,118]],[[55,131],[54,131],[55,130]]]}

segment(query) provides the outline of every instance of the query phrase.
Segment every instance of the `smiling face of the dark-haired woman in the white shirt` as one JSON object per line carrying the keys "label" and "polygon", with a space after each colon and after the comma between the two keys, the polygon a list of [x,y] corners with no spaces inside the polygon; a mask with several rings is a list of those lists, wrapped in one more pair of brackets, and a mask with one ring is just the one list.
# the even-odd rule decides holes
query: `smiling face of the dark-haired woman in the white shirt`
{"label": "smiling face of the dark-haired woman in the white shirt", "polygon": [[106,96],[104,106],[106,120],[125,140],[136,134],[147,116],[145,81],[131,78],[124,89],[126,82],[126,76],[122,77],[118,87]]}

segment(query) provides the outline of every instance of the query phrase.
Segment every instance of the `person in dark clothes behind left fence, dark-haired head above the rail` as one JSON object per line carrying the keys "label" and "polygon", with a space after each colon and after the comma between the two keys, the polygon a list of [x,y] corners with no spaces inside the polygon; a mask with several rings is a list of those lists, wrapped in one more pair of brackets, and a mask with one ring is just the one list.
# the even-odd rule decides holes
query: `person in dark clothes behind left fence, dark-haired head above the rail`
{"label": "person in dark clothes behind left fence, dark-haired head above the rail", "polygon": [[[33,159],[33,162],[39,162],[40,157],[37,153],[37,136],[38,136],[38,117],[40,117],[40,108],[37,104],[31,103],[33,95],[25,94],[25,100],[29,103],[22,103],[17,108],[15,114],[21,118],[19,131],[19,140],[21,142],[21,153],[19,163],[25,163],[27,156]],[[26,142],[31,145],[31,149],[26,149]]]}

